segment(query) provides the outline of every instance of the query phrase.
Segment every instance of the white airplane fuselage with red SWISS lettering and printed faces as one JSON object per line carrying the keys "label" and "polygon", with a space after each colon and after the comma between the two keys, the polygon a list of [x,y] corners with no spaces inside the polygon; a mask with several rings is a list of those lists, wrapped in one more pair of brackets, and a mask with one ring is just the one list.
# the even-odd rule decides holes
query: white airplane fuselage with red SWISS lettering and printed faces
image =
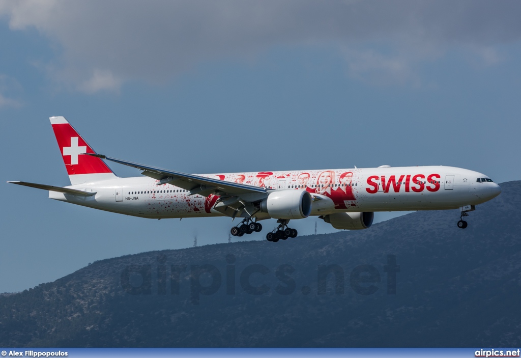
{"label": "white airplane fuselage with red SWISS lettering and printed faces", "polygon": [[[318,200],[311,215],[337,212],[415,211],[476,205],[501,189],[479,172],[445,166],[379,167],[202,175],[272,190],[307,190]],[[489,179],[490,180],[490,179]],[[50,191],[51,199],[145,218],[222,216],[208,197],[150,177],[114,178],[67,188],[96,192],[76,196]],[[269,218],[266,213],[254,215]]]}

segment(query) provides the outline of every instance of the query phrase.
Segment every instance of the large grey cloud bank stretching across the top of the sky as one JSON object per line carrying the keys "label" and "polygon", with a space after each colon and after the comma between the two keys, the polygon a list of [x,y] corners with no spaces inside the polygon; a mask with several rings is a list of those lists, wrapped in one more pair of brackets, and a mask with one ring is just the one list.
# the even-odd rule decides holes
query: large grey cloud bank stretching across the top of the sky
{"label": "large grey cloud bank stretching across the top of the sky", "polygon": [[[1,15],[13,30],[47,36],[59,49],[53,77],[87,92],[167,81],[204,61],[249,58],[274,45],[317,43],[347,48],[356,78],[414,82],[414,65],[447,48],[475,48],[494,64],[494,46],[521,38],[517,0],[4,0]],[[393,55],[377,53],[375,42]]]}

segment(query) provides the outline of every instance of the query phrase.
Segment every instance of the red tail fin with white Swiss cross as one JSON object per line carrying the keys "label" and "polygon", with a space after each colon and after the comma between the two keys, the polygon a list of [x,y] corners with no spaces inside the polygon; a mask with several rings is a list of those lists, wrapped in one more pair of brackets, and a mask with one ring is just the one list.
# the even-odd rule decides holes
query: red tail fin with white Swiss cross
{"label": "red tail fin with white Swiss cross", "polygon": [[64,117],[50,117],[54,135],[72,185],[116,178],[102,161],[83,153],[96,153]]}

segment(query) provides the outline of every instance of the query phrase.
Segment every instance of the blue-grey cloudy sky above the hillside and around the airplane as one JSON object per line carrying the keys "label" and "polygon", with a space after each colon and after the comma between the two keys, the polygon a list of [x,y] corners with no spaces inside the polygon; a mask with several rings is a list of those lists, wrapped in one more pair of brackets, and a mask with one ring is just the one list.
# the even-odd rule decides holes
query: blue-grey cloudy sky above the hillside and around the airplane
{"label": "blue-grey cloudy sky above the hillside and around the airplane", "polygon": [[133,218],[6,184],[69,184],[49,116],[98,153],[185,172],[452,165],[521,179],[519,18],[518,2],[2,3],[0,292],[228,240],[228,218]]}

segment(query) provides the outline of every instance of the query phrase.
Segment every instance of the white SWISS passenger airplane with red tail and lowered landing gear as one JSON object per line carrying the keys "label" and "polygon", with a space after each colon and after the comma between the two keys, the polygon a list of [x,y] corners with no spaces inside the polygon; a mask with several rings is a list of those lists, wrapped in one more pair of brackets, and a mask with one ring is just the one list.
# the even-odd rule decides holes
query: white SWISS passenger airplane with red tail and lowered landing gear
{"label": "white SWISS passenger airplane with red tail and lowered landing gear", "polygon": [[[258,171],[187,174],[122,161],[94,152],[64,117],[50,117],[71,182],[56,187],[8,181],[49,191],[49,198],[151,219],[227,216],[242,218],[233,236],[259,232],[264,219],[279,224],[271,242],[297,236],[290,220],[318,216],[336,229],[361,230],[374,213],[460,209],[458,228],[475,206],[501,193],[488,176],[449,166]],[[141,170],[120,178],[104,160]]]}

